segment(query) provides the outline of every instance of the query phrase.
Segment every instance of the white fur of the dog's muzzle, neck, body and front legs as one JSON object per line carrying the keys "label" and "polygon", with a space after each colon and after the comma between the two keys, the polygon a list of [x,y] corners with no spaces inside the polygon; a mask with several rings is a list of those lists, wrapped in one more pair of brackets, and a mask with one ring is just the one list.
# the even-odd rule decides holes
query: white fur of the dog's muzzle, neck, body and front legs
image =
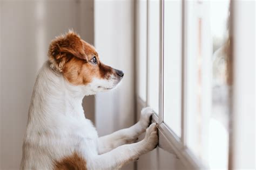
{"label": "white fur of the dog's muzzle, neck, body and front legs", "polygon": [[146,130],[151,109],[142,110],[140,121],[130,128],[100,138],[85,118],[83,97],[117,84],[114,79],[94,79],[87,86],[72,86],[45,62],[33,89],[21,169],[53,169],[54,161],[74,152],[83,156],[87,169],[117,169],[151,151],[158,143],[156,124],[142,141],[133,143]]}

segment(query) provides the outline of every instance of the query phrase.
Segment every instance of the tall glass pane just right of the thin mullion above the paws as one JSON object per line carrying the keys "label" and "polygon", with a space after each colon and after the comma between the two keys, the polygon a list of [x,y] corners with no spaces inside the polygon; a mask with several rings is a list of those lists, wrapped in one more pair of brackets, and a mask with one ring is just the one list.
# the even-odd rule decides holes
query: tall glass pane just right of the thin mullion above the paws
{"label": "tall glass pane just right of the thin mullion above the paws", "polygon": [[181,1],[164,2],[164,122],[181,136]]}

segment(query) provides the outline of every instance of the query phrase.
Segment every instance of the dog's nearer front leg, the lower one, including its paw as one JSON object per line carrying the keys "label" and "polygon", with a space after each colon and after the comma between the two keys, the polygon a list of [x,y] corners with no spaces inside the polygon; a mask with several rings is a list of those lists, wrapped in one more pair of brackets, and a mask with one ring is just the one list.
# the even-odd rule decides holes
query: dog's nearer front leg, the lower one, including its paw
{"label": "dog's nearer front leg, the lower one, including its paw", "polygon": [[153,150],[158,144],[157,124],[152,123],[146,130],[145,138],[138,143],[122,145],[112,151],[97,155],[88,162],[88,169],[118,169],[139,155]]}

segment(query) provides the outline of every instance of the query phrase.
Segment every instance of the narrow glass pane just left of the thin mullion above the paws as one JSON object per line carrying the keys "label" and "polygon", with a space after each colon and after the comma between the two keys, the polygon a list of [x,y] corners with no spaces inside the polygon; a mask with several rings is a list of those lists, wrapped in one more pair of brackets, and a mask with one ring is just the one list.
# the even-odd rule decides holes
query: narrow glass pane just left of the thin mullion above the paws
{"label": "narrow glass pane just left of the thin mullion above the paws", "polygon": [[148,4],[148,104],[158,113],[159,99],[159,1],[150,0]]}

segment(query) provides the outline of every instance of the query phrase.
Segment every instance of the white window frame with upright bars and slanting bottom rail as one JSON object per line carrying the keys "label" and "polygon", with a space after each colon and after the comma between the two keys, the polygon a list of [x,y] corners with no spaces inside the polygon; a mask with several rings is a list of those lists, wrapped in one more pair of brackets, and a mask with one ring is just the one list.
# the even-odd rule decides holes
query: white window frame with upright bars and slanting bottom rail
{"label": "white window frame with upright bars and slanting bottom rail", "polygon": [[[183,41],[182,41],[182,77],[181,77],[181,86],[182,89],[185,89],[185,52],[184,52],[184,8],[185,8],[185,1],[182,2],[183,6],[182,6],[182,18],[183,18],[183,25],[182,25],[182,37],[183,37]],[[164,95],[164,91],[163,91],[163,62],[164,62],[164,56],[163,56],[163,52],[164,52],[164,0],[160,0],[160,29],[159,29],[159,34],[160,34],[160,44],[159,44],[159,110],[158,110],[158,115],[154,114],[152,117],[152,122],[156,122],[159,124],[159,147],[163,148],[166,151],[169,151],[172,154],[175,154],[177,156],[177,158],[179,158],[181,160],[181,162],[183,163],[183,165],[188,168],[188,169],[201,169],[201,168],[205,168],[206,166],[204,166],[200,160],[198,160],[192,153],[190,150],[188,150],[188,148],[184,147],[185,146],[185,101],[184,101],[184,97],[181,97],[181,138],[179,138],[170,128],[169,126],[167,126],[164,122],[163,122],[163,95]],[[149,14],[148,14],[148,1],[147,1],[147,70],[148,68],[148,21],[149,21]],[[149,75],[147,74],[147,80],[146,82],[148,83],[148,79],[149,79]],[[146,83],[146,88],[147,88],[147,83]],[[181,90],[181,95],[184,96],[185,95],[185,91]],[[148,101],[148,97],[149,97],[149,90],[146,90],[146,99]],[[146,107],[147,101],[143,101],[139,95],[137,94],[137,115],[139,115],[140,110],[144,107]]]}

